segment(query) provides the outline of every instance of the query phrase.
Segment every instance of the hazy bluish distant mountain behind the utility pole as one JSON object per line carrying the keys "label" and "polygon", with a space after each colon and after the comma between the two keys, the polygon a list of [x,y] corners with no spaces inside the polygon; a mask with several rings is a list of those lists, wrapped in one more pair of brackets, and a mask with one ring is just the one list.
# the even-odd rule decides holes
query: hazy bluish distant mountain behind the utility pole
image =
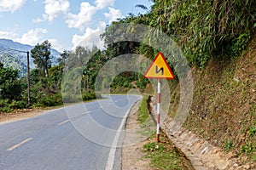
{"label": "hazy bluish distant mountain behind the utility pole", "polygon": [[[33,46],[14,42],[9,39],[0,39],[0,62],[5,67],[13,67],[20,71],[20,76],[26,76],[26,51],[31,51]],[[24,52],[24,53],[23,53]],[[51,59],[52,65],[57,65],[57,59],[60,58],[61,53],[55,49],[51,49],[50,54],[53,56]],[[36,68],[30,57],[30,68]]]}

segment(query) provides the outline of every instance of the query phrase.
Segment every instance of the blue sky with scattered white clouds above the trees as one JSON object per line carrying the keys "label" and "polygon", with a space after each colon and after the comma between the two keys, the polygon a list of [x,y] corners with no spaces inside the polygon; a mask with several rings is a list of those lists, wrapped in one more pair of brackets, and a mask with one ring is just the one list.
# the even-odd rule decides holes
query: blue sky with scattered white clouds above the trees
{"label": "blue sky with scattered white clouds above the trees", "polygon": [[92,44],[111,21],[128,14],[146,13],[136,8],[148,0],[0,0],[0,38],[29,45],[49,40],[59,50]]}

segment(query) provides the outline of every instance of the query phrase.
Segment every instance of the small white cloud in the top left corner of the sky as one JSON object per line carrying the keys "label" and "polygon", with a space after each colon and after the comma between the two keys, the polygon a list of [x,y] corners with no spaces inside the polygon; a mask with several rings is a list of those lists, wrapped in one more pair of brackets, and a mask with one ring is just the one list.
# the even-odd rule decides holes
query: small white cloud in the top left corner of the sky
{"label": "small white cloud in the top left corner of the sky", "polygon": [[0,1],[0,12],[1,11],[10,11],[14,13],[16,10],[21,8],[26,0],[1,0]]}

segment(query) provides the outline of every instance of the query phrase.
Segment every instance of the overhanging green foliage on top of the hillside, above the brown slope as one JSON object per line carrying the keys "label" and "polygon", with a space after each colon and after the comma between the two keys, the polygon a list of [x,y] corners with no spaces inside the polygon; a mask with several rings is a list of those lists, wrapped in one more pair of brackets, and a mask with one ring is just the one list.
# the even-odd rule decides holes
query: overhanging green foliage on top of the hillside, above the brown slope
{"label": "overhanging green foliage on top of the hillside, above the brown slope", "polygon": [[[112,25],[134,23],[157,28],[156,32],[148,33],[158,35],[163,31],[172,37],[192,65],[204,67],[209,59],[227,60],[239,56],[255,34],[254,0],[152,2],[154,5],[148,14],[131,14]],[[108,37],[105,38],[108,41]],[[152,51],[147,48],[140,47],[140,53]]]}

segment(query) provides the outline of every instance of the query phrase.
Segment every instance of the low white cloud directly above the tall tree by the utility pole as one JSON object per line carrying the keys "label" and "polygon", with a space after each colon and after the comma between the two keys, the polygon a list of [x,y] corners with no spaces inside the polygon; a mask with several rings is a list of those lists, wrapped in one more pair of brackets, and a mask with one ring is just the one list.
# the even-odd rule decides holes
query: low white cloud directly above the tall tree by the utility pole
{"label": "low white cloud directly above the tall tree by the utility pole", "polygon": [[28,44],[28,45],[36,45],[38,42],[44,42],[44,34],[48,31],[42,28],[32,29],[24,33],[20,38],[16,38],[16,42]]}

